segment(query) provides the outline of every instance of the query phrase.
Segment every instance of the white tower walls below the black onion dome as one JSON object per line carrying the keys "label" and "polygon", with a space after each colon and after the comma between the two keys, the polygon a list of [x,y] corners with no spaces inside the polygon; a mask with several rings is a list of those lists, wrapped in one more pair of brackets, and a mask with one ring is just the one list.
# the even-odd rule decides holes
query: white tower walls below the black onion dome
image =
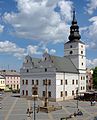
{"label": "white tower walls below the black onion dome", "polygon": [[79,93],[86,91],[86,55],[85,44],[82,42],[70,42],[64,45],[65,56],[69,57],[76,66],[79,75]]}

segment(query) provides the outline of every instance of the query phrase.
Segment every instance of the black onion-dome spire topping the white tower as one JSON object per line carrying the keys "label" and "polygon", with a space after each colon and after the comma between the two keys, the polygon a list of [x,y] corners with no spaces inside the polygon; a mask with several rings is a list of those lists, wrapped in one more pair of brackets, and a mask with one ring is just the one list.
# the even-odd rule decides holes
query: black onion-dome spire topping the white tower
{"label": "black onion-dome spire topping the white tower", "polygon": [[69,35],[69,40],[70,41],[79,41],[81,38],[79,34],[79,26],[77,25],[77,20],[75,17],[75,9],[73,10],[73,20],[72,20],[72,25],[70,27],[70,35]]}

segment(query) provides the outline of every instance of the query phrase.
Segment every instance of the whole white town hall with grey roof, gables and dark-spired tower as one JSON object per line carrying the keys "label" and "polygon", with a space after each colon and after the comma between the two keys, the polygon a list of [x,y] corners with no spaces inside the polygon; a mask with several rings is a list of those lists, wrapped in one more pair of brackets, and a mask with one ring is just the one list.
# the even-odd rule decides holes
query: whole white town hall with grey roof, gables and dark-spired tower
{"label": "whole white town hall with grey roof, gables and dark-spired tower", "polygon": [[48,98],[51,101],[73,99],[86,92],[85,44],[80,40],[79,26],[73,11],[69,41],[64,44],[64,56],[45,52],[42,58],[27,55],[20,69],[20,95],[31,97],[33,86],[38,88],[38,97],[44,99],[45,80],[48,81]]}

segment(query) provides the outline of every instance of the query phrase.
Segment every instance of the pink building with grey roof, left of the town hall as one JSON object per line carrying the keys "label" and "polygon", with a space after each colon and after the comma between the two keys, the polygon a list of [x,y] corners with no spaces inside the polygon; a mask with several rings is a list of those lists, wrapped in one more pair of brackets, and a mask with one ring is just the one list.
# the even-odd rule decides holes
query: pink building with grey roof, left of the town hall
{"label": "pink building with grey roof, left of the town hall", "polygon": [[12,90],[20,89],[20,73],[15,70],[1,70],[0,74],[5,78],[6,87]]}

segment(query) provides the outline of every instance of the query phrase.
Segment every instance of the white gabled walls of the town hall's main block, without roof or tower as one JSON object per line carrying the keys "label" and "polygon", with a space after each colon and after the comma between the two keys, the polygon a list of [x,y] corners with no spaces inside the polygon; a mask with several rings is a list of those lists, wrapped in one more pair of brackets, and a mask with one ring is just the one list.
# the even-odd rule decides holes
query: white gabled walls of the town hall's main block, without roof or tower
{"label": "white gabled walls of the town hall's main block, without roof or tower", "polygon": [[[80,84],[84,85],[84,81],[79,82],[79,74],[56,71],[55,61],[49,54],[33,62],[33,58],[26,56],[23,67],[21,68],[20,94],[23,97],[32,96],[32,88],[34,85],[38,87],[39,98],[44,99],[45,92],[44,80],[50,80],[48,85],[49,99],[52,101],[63,101],[72,99],[76,96],[76,91]],[[61,58],[60,58],[61,59]],[[62,59],[65,59],[64,57]],[[32,64],[33,63],[33,64]],[[34,82],[33,82],[34,81]],[[38,83],[37,83],[38,81]],[[85,89],[85,88],[84,88]],[[80,90],[82,92],[82,90]]]}

